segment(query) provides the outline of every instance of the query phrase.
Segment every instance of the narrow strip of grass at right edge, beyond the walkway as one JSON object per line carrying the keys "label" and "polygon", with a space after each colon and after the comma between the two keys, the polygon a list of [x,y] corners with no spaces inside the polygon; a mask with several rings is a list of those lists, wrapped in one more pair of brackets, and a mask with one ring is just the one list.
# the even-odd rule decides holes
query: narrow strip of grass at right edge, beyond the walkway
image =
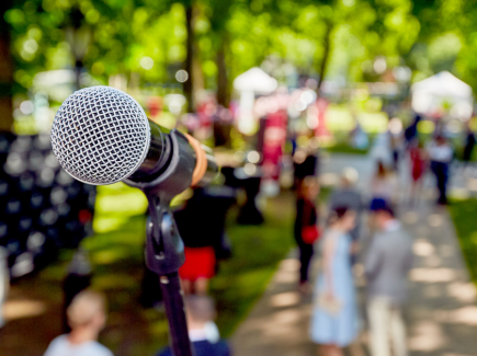
{"label": "narrow strip of grass at right edge, beyond the walkway", "polygon": [[477,198],[453,200],[448,210],[473,282],[477,285]]}

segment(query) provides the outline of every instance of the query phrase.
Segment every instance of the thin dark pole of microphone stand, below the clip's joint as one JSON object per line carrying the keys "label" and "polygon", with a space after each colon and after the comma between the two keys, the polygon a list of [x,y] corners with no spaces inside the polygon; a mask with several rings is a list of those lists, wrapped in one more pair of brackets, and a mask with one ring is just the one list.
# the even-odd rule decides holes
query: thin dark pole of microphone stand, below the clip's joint
{"label": "thin dark pole of microphone stand, below the clip's joint", "polygon": [[184,313],[179,273],[160,276],[166,314],[169,320],[171,347],[174,356],[191,356],[191,343],[189,341],[188,324]]}

